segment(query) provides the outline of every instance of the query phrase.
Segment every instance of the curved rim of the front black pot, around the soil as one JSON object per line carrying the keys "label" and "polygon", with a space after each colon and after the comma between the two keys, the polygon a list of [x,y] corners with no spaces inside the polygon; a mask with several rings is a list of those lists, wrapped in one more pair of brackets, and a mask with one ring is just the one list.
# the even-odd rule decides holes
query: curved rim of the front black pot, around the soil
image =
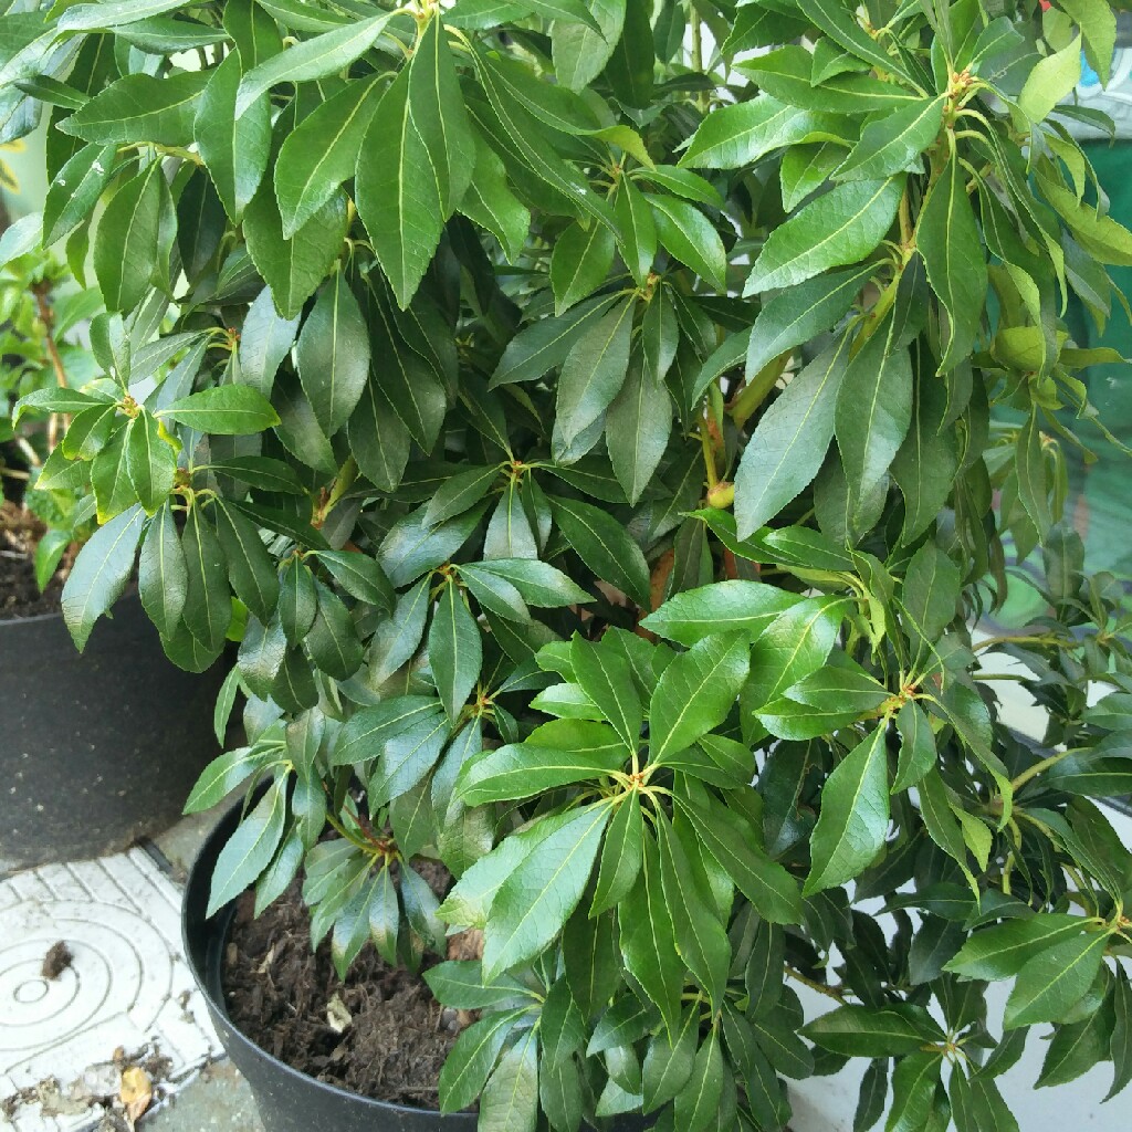
{"label": "curved rim of the front black pot, around the soil", "polygon": [[[189,970],[192,972],[194,981],[199,988],[201,995],[204,995],[209,1010],[228,1023],[228,1029],[232,1038],[238,1041],[249,1055],[258,1057],[260,1061],[266,1062],[273,1069],[286,1074],[288,1077],[298,1078],[308,1088],[316,1089],[328,1096],[348,1099],[354,1104],[371,1107],[376,1112],[398,1113],[404,1116],[435,1116],[449,1121],[453,1124],[458,1122],[458,1124],[462,1124],[468,1129],[474,1127],[477,1121],[479,1120],[479,1115],[477,1113],[441,1113],[436,1108],[419,1108],[412,1105],[400,1105],[392,1100],[378,1100],[374,1097],[363,1097],[359,1092],[351,1092],[349,1089],[343,1089],[341,1086],[332,1084],[328,1081],[319,1081],[318,1078],[297,1070],[293,1065],[289,1065],[286,1062],[281,1061],[273,1054],[269,1054],[261,1046],[256,1045],[256,1043],[252,1041],[251,1038],[249,1038],[248,1035],[246,1035],[229,1017],[223,997],[217,1001],[216,996],[212,993],[212,988],[208,986],[208,955],[213,951],[213,947],[209,946],[209,944],[215,938],[217,931],[221,931],[223,936],[226,937],[235,911],[235,901],[230,901],[211,917],[205,917],[201,912],[203,909],[207,908],[207,893],[212,880],[212,868],[216,863],[216,858],[220,856],[223,843],[234,831],[235,825],[239,822],[239,814],[242,807],[243,799],[241,798],[228,811],[226,814],[224,814],[220,822],[217,822],[214,826],[213,831],[205,839],[199,854],[197,854],[196,859],[192,861],[192,866],[189,868],[185,883],[185,895],[181,900],[181,946],[185,950],[186,961],[189,964]],[[203,963],[198,963],[197,951],[199,949],[195,949],[192,945],[190,940],[190,929],[198,932],[205,941]],[[224,1044],[226,1046],[226,1043]]]}

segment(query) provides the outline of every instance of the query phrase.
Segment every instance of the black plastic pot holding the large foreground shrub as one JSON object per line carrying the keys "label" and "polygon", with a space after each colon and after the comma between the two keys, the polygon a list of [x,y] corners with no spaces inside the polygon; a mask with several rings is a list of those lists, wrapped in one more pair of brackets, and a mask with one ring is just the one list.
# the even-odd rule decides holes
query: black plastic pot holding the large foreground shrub
{"label": "black plastic pot holding the large foreground shrub", "polygon": [[[371,1100],[307,1077],[245,1037],[228,1017],[221,985],[222,958],[235,904],[205,918],[213,867],[232,835],[240,807],[230,811],[205,842],[189,872],[181,909],[181,936],[189,967],[205,996],[216,1034],[235,1067],[247,1079],[266,1132],[474,1132],[471,1113],[441,1116],[423,1108],[409,1108]],[[645,1123],[623,1117],[612,1132],[643,1132]]]}

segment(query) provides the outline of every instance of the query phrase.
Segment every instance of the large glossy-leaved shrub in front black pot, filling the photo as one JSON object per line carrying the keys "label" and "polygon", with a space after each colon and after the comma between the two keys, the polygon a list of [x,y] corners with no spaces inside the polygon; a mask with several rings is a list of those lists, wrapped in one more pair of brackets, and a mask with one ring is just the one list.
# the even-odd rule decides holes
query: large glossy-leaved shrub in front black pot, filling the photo
{"label": "large glossy-leaved shrub in front black pot, filling the photo", "polygon": [[[251,790],[187,942],[273,1129],[437,1117],[235,1031],[238,900],[305,902],[343,987],[426,968],[434,1104],[484,1130],[777,1129],[782,1077],[849,1058],[858,1127],[1017,1127],[996,1080],[1047,1026],[1040,1083],[1127,1082],[1123,591],[1058,454],[1104,431],[1061,314],[1132,261],[1064,129],[1106,5],[19,19],[0,74],[115,314],[71,431],[137,457],[76,592],[137,558],[188,663],[247,611],[248,744],[189,808]],[[198,363],[136,392],[139,327]],[[1007,544],[1046,610],[977,642]],[[300,990],[343,1080],[350,1011]]]}

